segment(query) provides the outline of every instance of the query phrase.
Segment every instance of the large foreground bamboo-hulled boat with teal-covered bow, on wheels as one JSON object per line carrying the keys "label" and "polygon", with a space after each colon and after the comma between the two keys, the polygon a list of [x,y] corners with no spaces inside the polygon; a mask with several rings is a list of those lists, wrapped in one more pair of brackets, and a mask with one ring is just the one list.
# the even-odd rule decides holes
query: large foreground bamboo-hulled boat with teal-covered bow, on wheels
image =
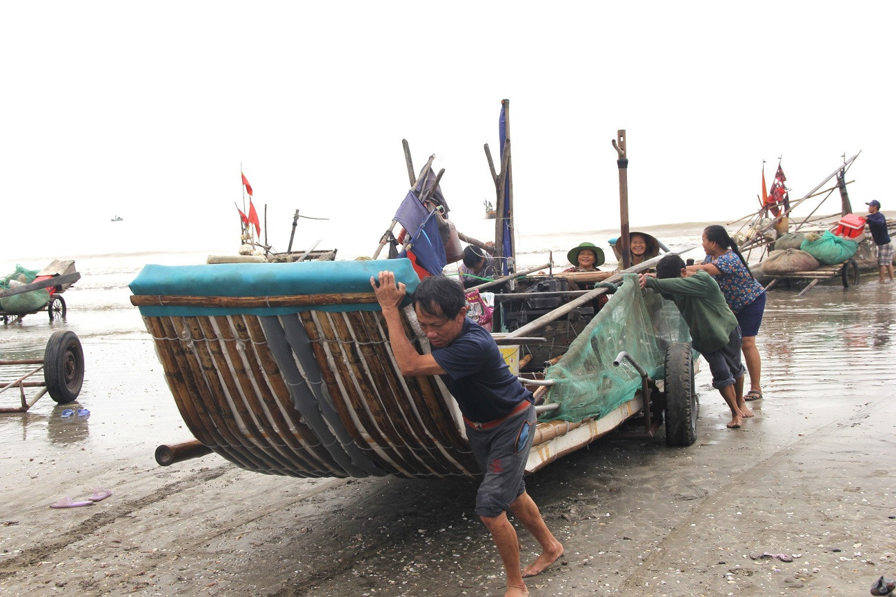
{"label": "large foreground bamboo-hulled boat with teal-covered bow, on wheels", "polygon": [[[409,209],[425,214],[422,224],[404,226],[413,234],[399,235],[404,240],[393,259],[148,265],[134,279],[131,302],[196,439],[160,446],[159,464],[213,451],[246,470],[295,477],[479,473],[460,411],[442,380],[401,375],[370,286],[371,277],[390,269],[413,294],[427,265],[424,239],[440,239],[446,220],[444,198],[433,200],[441,194],[444,170],[433,175],[430,159],[415,176],[405,149],[411,187],[392,226],[404,225]],[[509,183],[509,150],[508,139],[502,173],[492,169],[499,193]],[[507,199],[499,194],[499,212]],[[398,240],[392,226],[377,254]],[[428,234],[426,226],[432,226]],[[450,253],[453,226],[447,229]],[[504,238],[496,238],[495,246],[504,246]],[[445,244],[433,243],[443,254]],[[506,256],[499,259],[508,264]],[[674,304],[642,293],[633,275],[658,259],[607,278],[624,282],[617,289],[539,292],[545,280],[556,279],[550,263],[487,283],[507,295],[508,305],[518,305],[496,311],[492,331],[537,400],[527,472],[636,416],[641,437],[653,437],[665,421],[668,444],[694,443],[696,363],[687,327]],[[444,265],[430,267],[441,272]],[[616,294],[594,313],[590,303],[613,289]],[[547,304],[547,312],[535,319],[511,316],[532,301]],[[409,306],[402,324],[418,352],[426,353],[426,335]]]}

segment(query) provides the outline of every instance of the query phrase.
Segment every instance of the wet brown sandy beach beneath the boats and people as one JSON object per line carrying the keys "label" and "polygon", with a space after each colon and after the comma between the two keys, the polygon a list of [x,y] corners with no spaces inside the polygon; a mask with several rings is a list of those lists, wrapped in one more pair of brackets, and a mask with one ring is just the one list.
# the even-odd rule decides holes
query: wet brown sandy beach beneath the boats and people
{"label": "wet brown sandy beach beneath the boats and people", "polygon": [[[744,428],[725,428],[704,367],[694,446],[604,439],[530,476],[566,548],[530,592],[868,594],[896,576],[894,298],[868,277],[772,291]],[[290,479],[214,455],[161,468],[154,448],[189,436],[149,337],[79,335],[90,417],[49,397],[0,415],[0,593],[504,594],[475,481]],[[94,506],[48,507],[99,485],[113,495]],[[766,552],[793,561],[751,558]]]}

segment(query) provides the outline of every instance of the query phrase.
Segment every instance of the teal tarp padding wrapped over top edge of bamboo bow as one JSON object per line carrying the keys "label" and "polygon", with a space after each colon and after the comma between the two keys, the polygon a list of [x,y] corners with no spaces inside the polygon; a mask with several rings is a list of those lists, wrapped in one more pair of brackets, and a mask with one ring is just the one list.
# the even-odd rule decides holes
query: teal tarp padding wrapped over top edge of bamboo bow
{"label": "teal tarp padding wrapped over top edge of bamboo bow", "polygon": [[[371,293],[370,277],[383,269],[413,294],[419,279],[410,260],[309,261],[299,263],[221,263],[213,265],[147,265],[131,282],[142,296],[291,296],[296,294]],[[409,303],[409,299],[406,300]],[[339,304],[287,307],[141,306],[145,317],[195,315],[287,315],[298,311],[378,311],[379,305]]]}

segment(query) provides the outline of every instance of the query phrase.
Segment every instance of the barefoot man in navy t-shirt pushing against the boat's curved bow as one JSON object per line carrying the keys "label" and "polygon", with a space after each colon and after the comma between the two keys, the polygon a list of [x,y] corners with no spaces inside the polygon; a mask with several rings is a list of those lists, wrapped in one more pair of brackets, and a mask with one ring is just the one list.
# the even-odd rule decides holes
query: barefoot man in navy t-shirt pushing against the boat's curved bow
{"label": "barefoot man in navy t-shirt pushing against the boat's curved bow", "polygon": [[[405,285],[391,271],[370,278],[389,328],[392,354],[405,376],[438,375],[461,407],[467,439],[484,477],[476,513],[492,533],[507,576],[505,597],[528,595],[524,576],[541,574],[560,556],[563,545],[547,529],[538,506],[526,492],[522,475],[532,447],[535,406],[516,379],[495,340],[467,318],[461,285],[447,277],[427,277],[412,298],[420,329],[432,347],[419,354],[405,336],[399,308]],[[541,554],[520,569],[520,545],[507,510],[538,540]]]}

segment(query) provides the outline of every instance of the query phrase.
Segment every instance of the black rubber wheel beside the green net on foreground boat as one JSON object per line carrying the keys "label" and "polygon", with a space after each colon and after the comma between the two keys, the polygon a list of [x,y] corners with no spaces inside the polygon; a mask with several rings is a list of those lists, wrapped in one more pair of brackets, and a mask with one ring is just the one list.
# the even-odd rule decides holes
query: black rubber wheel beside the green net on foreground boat
{"label": "black rubber wheel beside the green net on foreground boat", "polygon": [[694,391],[691,345],[675,342],[666,351],[666,443],[690,446],[697,440],[700,405]]}

